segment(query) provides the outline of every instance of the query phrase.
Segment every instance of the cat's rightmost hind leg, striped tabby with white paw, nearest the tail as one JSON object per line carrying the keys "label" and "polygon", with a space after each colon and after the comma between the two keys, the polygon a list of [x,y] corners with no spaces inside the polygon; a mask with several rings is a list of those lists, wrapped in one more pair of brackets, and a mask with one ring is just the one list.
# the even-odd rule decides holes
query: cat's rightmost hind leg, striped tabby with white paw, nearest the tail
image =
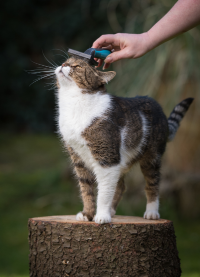
{"label": "cat's rightmost hind leg, striped tabby with white paw, nearest the tail", "polygon": [[140,168],[144,175],[146,185],[145,193],[147,198],[144,218],[159,219],[159,181],[160,181],[160,159],[142,159]]}

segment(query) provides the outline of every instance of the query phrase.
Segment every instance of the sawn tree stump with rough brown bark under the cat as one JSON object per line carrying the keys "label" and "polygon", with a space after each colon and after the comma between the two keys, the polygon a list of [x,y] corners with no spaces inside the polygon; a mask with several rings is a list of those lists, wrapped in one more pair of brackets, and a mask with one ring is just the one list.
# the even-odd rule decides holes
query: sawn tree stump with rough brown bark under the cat
{"label": "sawn tree stump with rough brown bark under the cat", "polygon": [[114,216],[108,224],[75,215],[30,218],[29,268],[34,277],[178,277],[173,223]]}

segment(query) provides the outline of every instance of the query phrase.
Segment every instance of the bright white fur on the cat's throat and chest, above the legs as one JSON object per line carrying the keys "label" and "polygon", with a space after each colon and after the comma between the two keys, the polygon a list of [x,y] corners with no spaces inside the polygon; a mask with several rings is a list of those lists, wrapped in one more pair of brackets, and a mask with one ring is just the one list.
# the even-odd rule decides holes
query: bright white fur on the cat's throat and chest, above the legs
{"label": "bright white fur on the cat's throat and chest, above the legs", "polygon": [[[71,146],[83,160],[85,151],[88,152],[86,141],[81,132],[88,127],[92,120],[101,117],[110,108],[108,94],[83,94],[75,84],[68,88],[60,88],[58,92],[59,131],[64,141]],[[81,153],[84,152],[84,153]],[[87,158],[88,160],[88,158]]]}

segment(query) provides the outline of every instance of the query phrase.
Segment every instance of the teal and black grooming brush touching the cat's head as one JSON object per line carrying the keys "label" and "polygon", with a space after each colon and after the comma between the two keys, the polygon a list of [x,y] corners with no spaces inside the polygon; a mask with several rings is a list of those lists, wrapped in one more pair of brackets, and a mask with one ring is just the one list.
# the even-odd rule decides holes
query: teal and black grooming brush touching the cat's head
{"label": "teal and black grooming brush touching the cat's head", "polygon": [[98,63],[94,60],[94,58],[104,60],[112,52],[105,48],[89,48],[84,53],[73,49],[68,49],[67,53],[70,56],[77,57],[78,59],[86,60],[90,65],[97,66]]}

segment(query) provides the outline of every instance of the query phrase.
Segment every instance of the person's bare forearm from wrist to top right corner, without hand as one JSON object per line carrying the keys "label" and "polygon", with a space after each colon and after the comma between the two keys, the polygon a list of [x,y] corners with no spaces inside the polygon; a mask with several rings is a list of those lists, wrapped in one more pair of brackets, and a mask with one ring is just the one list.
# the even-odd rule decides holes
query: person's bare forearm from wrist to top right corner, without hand
{"label": "person's bare forearm from wrist to top right corner, without hand", "polygon": [[149,51],[200,23],[200,0],[178,0],[148,32]]}

